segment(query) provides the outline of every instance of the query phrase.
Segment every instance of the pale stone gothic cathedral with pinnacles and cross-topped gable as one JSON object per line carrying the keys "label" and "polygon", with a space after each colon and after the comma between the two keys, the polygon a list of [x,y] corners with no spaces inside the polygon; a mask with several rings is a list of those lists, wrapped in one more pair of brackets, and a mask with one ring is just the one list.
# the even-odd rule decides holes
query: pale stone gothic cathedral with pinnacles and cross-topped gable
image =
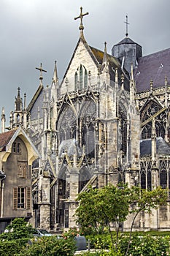
{"label": "pale stone gothic cathedral with pinnacles and cross-topped gable", "polygon": [[[36,227],[75,227],[75,199],[89,185],[170,187],[170,48],[142,56],[127,32],[110,55],[107,43],[98,50],[86,42],[87,14],[80,9],[80,38],[61,84],[55,62],[52,84],[43,86],[41,65],[28,108],[10,118],[12,128],[23,114],[23,128],[41,155],[32,166]],[[168,230],[169,207],[142,213],[136,229]]]}

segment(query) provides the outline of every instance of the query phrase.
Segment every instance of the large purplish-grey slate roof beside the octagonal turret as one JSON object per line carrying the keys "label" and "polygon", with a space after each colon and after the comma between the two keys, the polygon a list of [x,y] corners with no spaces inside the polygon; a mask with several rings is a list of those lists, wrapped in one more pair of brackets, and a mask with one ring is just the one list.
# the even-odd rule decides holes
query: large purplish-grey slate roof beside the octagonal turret
{"label": "large purplish-grey slate roof beside the octagonal turret", "polygon": [[137,92],[150,90],[150,80],[153,81],[153,88],[164,86],[166,75],[169,84],[169,74],[170,48],[139,58],[138,66],[134,69]]}

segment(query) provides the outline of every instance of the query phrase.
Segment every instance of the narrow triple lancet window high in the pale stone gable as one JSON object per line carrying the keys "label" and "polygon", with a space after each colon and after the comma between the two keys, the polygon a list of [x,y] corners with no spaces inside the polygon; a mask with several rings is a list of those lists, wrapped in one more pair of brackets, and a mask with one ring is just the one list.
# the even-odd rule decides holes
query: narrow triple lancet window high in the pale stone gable
{"label": "narrow triple lancet window high in the pale stone gable", "polygon": [[75,90],[82,90],[88,87],[88,71],[80,64],[74,75]]}

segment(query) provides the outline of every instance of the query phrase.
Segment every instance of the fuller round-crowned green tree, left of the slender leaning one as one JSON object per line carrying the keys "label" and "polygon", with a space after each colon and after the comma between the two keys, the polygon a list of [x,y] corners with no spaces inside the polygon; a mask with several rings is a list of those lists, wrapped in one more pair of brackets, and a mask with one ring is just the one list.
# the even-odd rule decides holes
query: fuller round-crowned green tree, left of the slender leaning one
{"label": "fuller round-crowned green tree, left of the slender leaning one", "polygon": [[125,221],[128,216],[128,208],[132,193],[134,191],[128,187],[128,184],[109,185],[101,189],[89,188],[88,192],[82,192],[78,195],[79,207],[76,211],[77,222],[82,230],[86,227],[93,227],[96,232],[102,227],[109,228],[109,233],[114,247],[114,241],[110,228],[110,223],[115,222],[117,227],[117,241],[119,223]]}

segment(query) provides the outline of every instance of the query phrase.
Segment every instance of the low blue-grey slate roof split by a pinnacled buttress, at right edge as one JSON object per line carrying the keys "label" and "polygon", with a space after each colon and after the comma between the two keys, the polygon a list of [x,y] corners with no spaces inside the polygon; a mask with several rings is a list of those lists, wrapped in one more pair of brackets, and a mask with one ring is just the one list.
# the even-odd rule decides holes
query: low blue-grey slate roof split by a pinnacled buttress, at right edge
{"label": "low blue-grey slate roof split by a pinnacled buttress, at right edge", "polygon": [[[140,155],[151,155],[152,154],[152,144],[151,139],[140,141]],[[170,155],[170,146],[163,140],[162,137],[156,138],[156,154]]]}

